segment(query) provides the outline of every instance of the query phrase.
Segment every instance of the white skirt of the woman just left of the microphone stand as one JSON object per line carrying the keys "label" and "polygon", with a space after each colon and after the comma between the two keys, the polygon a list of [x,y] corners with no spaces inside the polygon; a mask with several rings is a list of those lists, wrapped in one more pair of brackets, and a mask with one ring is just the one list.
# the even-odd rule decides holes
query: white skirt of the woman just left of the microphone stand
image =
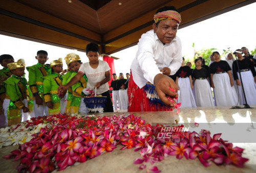
{"label": "white skirt of the woman just left of the microphone stand", "polygon": [[231,87],[227,73],[214,74],[215,101],[217,106],[234,106],[238,104],[238,95],[234,86]]}

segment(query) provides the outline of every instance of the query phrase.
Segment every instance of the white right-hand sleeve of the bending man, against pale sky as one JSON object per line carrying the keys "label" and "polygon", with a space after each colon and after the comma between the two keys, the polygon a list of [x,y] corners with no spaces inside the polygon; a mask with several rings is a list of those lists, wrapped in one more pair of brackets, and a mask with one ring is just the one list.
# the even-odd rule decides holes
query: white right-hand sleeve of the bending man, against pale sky
{"label": "white right-hand sleeve of the bending man, against pale sky", "polygon": [[175,75],[175,73],[180,69],[181,64],[182,64],[182,54],[181,54],[181,41],[180,39],[177,40],[178,41],[178,46],[176,48],[177,52],[174,56],[173,61],[170,63],[169,65],[169,69],[170,69],[170,75]]}

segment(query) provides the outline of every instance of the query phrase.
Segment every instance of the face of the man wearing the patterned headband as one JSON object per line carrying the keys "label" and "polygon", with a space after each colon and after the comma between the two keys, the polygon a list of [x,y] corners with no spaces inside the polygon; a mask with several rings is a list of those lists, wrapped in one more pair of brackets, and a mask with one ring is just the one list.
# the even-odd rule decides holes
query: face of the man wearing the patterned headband
{"label": "face of the man wearing the patterned headband", "polygon": [[161,20],[158,26],[153,24],[154,32],[163,44],[168,44],[176,37],[179,24],[176,20]]}

